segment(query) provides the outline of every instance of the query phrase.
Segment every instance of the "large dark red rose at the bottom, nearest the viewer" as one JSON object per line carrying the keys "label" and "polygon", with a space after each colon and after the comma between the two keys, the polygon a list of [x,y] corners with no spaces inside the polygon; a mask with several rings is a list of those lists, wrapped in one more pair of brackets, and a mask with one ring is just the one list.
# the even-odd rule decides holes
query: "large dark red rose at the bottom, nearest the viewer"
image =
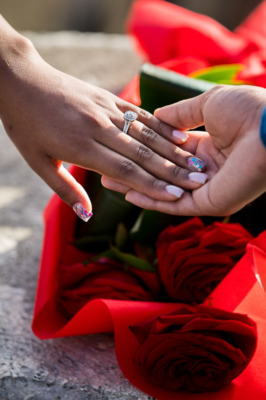
{"label": "large dark red rose at the bottom, nearest the viewer", "polygon": [[186,305],[130,329],[140,342],[135,364],[169,390],[221,389],[246,368],[257,345],[251,318],[205,305]]}

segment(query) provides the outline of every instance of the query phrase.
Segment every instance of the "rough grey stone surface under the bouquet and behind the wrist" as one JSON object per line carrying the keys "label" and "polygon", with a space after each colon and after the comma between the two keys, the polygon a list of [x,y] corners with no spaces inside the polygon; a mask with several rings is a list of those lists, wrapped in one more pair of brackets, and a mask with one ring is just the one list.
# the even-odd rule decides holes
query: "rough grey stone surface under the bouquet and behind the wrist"
{"label": "rough grey stone surface under the bouquet and behind the wrist", "polygon": [[[124,36],[30,36],[55,67],[116,92],[140,66]],[[52,193],[2,126],[0,171],[0,400],[148,400],[119,369],[112,334],[42,341],[31,332],[42,209]]]}

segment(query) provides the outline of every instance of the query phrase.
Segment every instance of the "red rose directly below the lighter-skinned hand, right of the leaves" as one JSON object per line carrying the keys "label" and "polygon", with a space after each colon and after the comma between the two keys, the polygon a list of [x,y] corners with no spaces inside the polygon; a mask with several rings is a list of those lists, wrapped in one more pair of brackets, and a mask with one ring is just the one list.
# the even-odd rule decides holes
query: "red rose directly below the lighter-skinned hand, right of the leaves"
{"label": "red rose directly below the lighter-skinned hand, right of the leaves", "polygon": [[157,240],[159,274],[168,295],[201,303],[245,253],[253,236],[239,223],[204,226],[192,218],[169,226]]}

